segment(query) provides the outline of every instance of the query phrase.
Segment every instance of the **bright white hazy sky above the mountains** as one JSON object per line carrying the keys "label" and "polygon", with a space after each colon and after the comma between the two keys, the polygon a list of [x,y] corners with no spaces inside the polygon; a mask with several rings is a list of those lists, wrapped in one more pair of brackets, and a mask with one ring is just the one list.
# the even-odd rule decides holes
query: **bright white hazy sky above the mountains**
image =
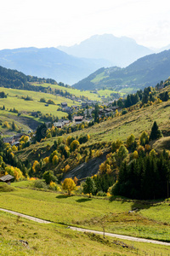
{"label": "bright white hazy sky above the mountains", "polygon": [[104,33],[170,44],[169,0],[2,0],[0,10],[0,49],[72,45]]}

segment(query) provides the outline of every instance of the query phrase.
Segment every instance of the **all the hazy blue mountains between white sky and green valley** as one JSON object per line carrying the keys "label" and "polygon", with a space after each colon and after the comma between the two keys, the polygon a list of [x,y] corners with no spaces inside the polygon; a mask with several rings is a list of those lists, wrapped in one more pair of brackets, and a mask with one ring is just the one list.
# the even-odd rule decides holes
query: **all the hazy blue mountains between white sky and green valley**
{"label": "all the hazy blue mountains between white sky and green valley", "polygon": [[153,50],[137,44],[132,38],[95,35],[81,44],[58,48],[3,49],[0,50],[0,66],[26,75],[75,84],[85,90],[102,84],[107,87],[121,84],[144,87],[167,79],[168,51],[154,55]]}

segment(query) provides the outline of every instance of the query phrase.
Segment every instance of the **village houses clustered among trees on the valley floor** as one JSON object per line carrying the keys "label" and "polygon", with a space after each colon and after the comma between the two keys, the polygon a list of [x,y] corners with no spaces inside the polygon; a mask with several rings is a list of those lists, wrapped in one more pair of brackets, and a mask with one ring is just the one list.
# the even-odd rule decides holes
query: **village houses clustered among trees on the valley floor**
{"label": "village houses clustered among trees on the valley floor", "polygon": [[[82,102],[81,100],[77,100],[78,104],[74,104],[71,107],[68,106],[67,102],[61,102],[59,107],[62,109],[62,112],[67,113],[68,116],[66,118],[58,119],[57,121],[45,122],[47,126],[54,125],[57,129],[62,129],[65,126],[69,125],[79,125],[85,122],[91,122],[94,120],[94,109],[95,106],[99,106],[99,118],[113,116],[116,111],[121,111],[122,108],[118,106],[112,106],[112,102],[97,102],[97,101],[88,101],[85,100]],[[80,105],[81,104],[81,105]],[[37,112],[31,113],[32,116],[36,117]],[[36,131],[36,130],[35,130]],[[3,137],[3,143],[9,143],[11,146],[18,147],[20,145],[20,138],[23,136],[28,136],[29,141],[31,141],[31,135],[35,132],[34,130],[29,130],[25,132],[20,132],[14,134],[10,137]],[[34,135],[33,135],[34,136]]]}

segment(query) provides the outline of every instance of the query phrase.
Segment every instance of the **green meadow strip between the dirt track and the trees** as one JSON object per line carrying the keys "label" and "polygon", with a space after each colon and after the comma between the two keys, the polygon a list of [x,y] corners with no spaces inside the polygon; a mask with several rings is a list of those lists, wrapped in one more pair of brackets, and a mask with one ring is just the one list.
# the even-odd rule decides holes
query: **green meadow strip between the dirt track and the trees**
{"label": "green meadow strip between the dirt track and the trees", "polygon": [[[13,185],[23,186],[22,183]],[[0,207],[58,224],[102,230],[101,221],[105,218],[105,231],[108,232],[164,241],[170,236],[169,201],[157,202],[153,206],[151,202],[109,201],[77,195],[67,197],[26,188],[1,193],[0,201]],[[133,207],[138,207],[139,212],[128,214]]]}

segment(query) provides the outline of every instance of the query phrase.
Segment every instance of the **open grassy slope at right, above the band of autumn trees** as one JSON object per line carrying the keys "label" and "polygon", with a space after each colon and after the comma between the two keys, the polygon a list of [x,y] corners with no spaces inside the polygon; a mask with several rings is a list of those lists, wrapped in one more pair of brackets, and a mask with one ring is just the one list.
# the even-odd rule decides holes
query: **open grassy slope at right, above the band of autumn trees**
{"label": "open grassy slope at right, above the band of autumn trees", "polygon": [[[88,143],[82,144],[82,146],[99,142],[112,142],[116,139],[126,141],[127,137],[132,133],[136,138],[139,138],[143,131],[148,131],[150,133],[151,127],[156,120],[164,135],[170,136],[170,119],[167,118],[169,113],[170,103],[161,102],[160,104],[135,110],[132,113],[127,113],[87,129],[76,131],[72,134],[70,133],[69,135],[76,137],[77,135],[80,136],[81,134],[88,133],[91,138]],[[65,135],[64,137],[68,137],[69,135]],[[22,160],[26,160],[27,157],[31,161],[35,160],[36,155],[32,153],[32,150],[36,149],[38,151],[41,149],[45,152],[46,145],[49,144],[52,146],[56,139],[57,137],[52,137],[43,143],[31,145],[29,148],[25,148],[18,152],[17,155]]]}

